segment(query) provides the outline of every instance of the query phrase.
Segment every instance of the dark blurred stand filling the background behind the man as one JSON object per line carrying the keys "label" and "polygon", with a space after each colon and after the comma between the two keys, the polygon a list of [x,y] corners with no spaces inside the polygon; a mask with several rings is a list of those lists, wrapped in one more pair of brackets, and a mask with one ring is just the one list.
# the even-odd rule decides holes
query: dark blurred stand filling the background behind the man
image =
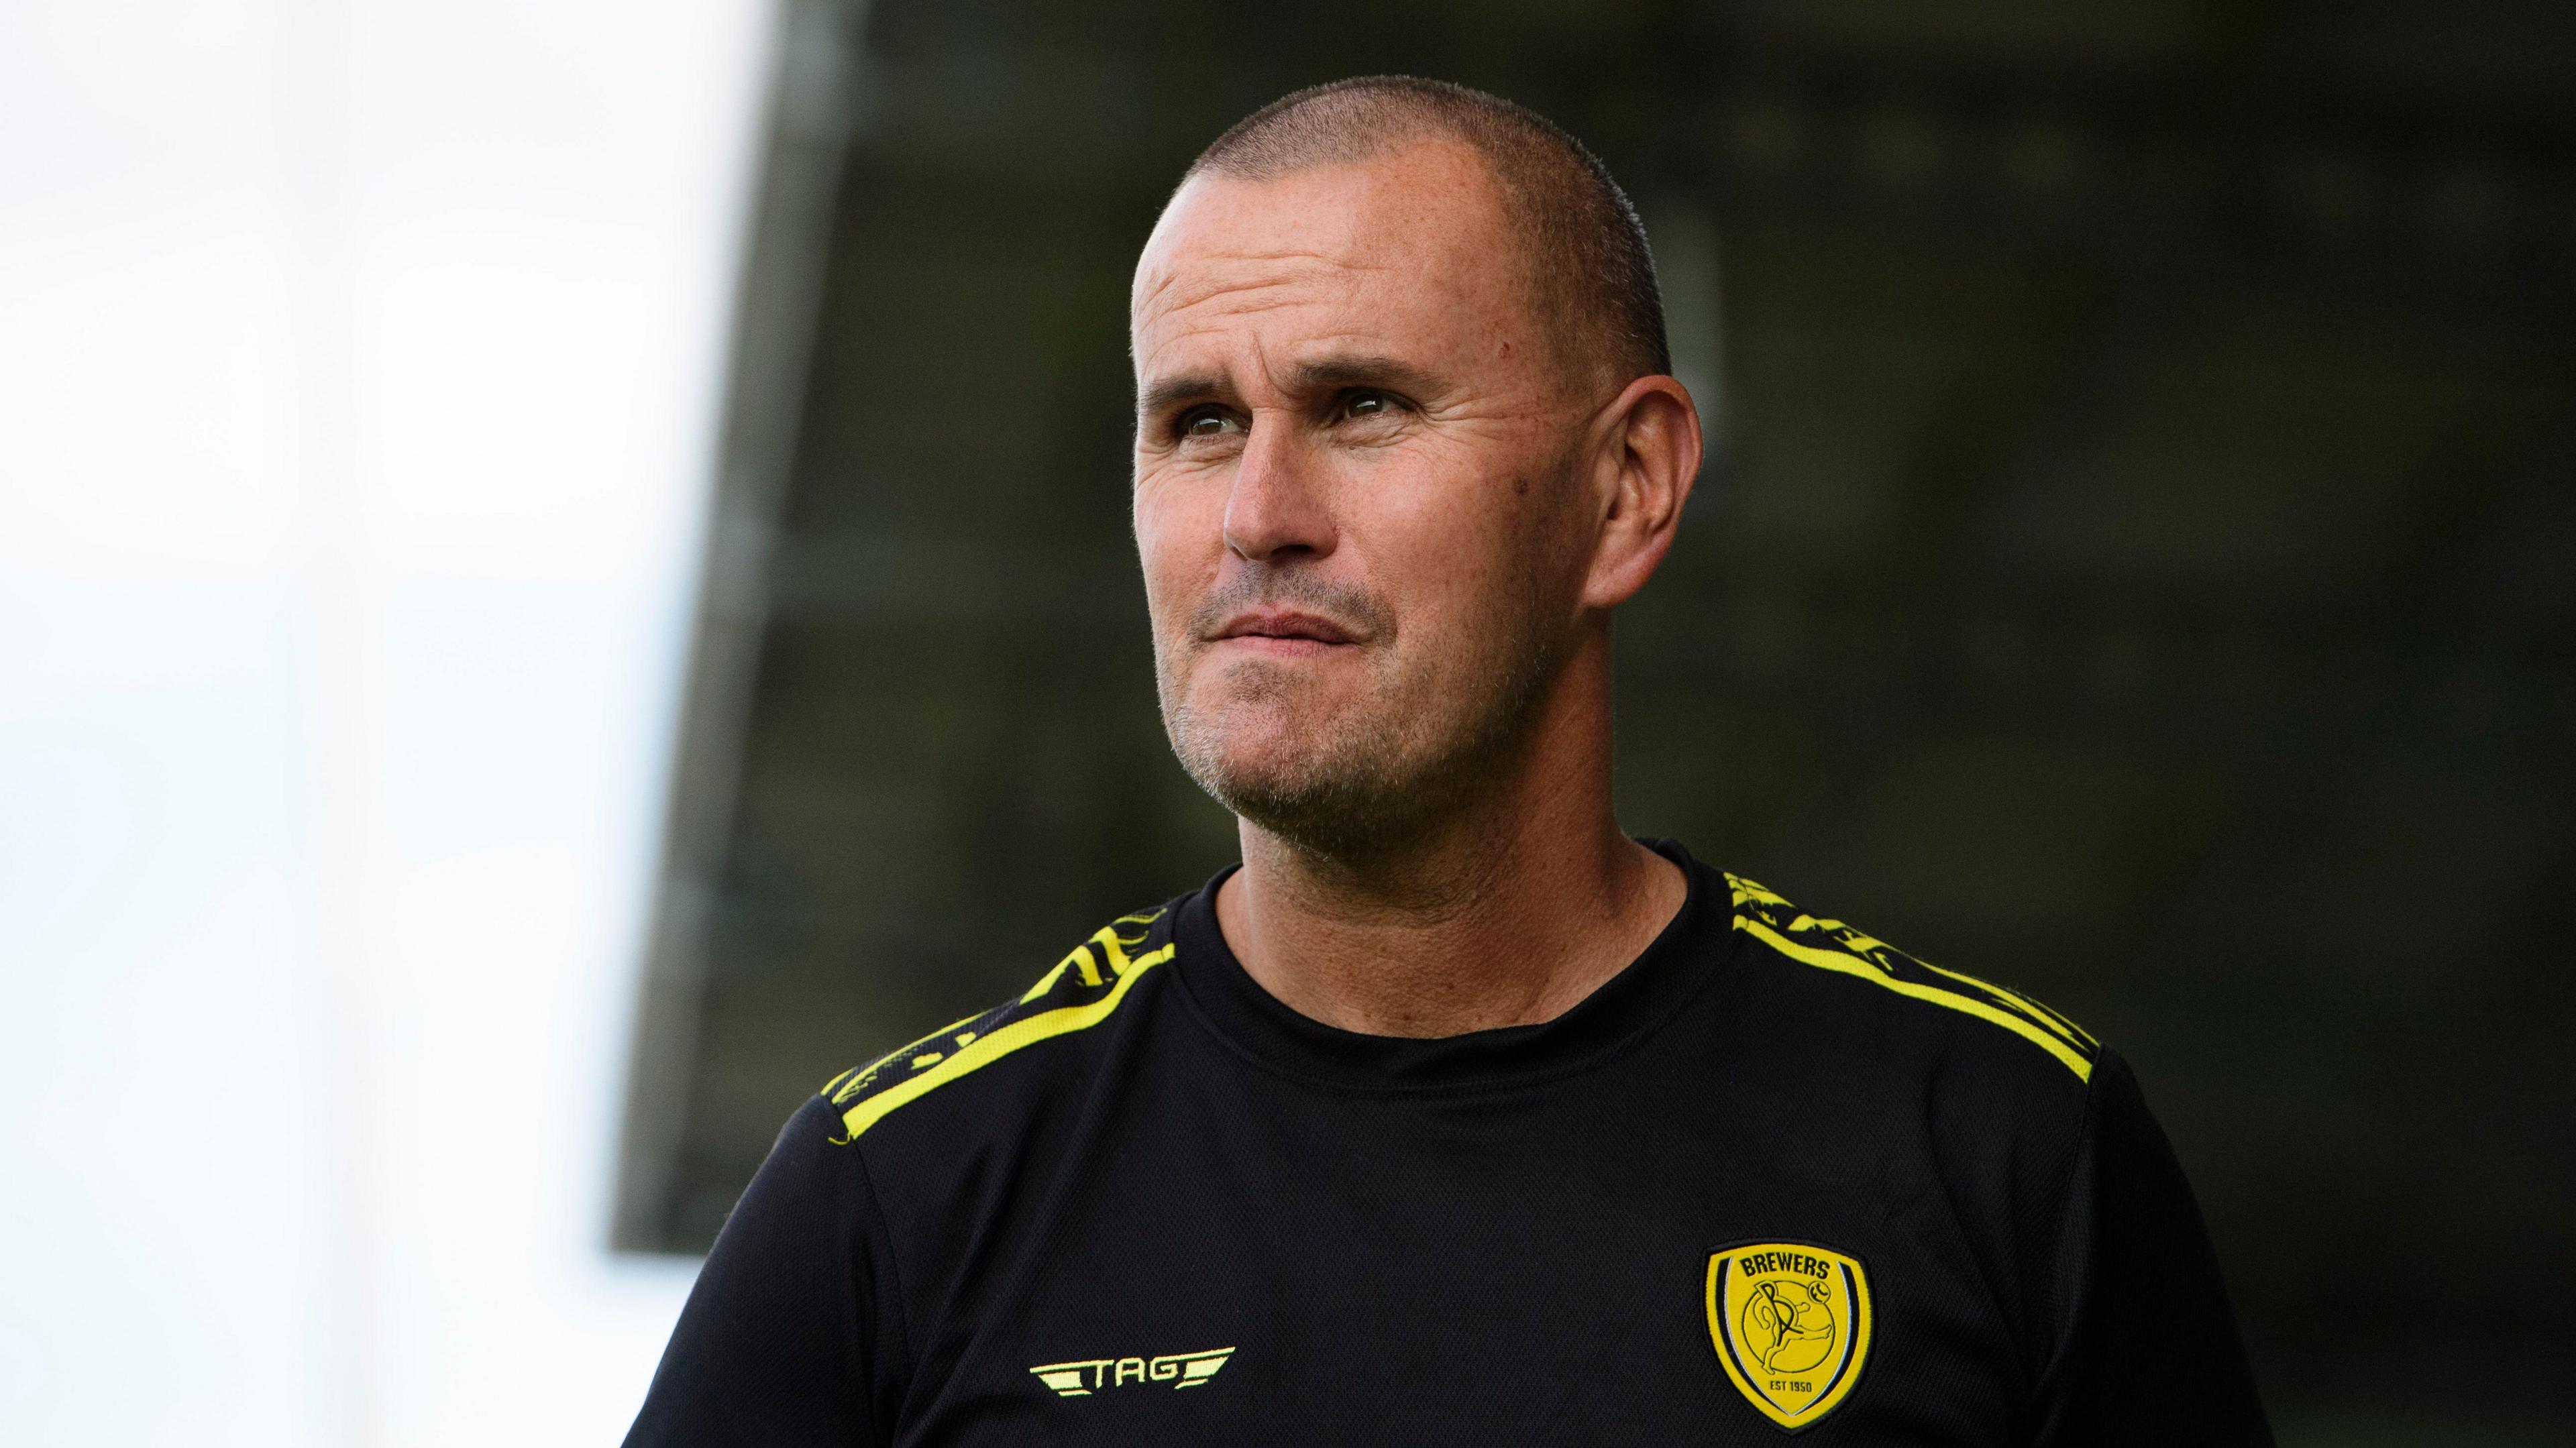
{"label": "dark blurred stand filling the background behind the man", "polygon": [[1126,533],[1126,286],[1316,80],[1530,103],[1718,451],[1620,806],[2138,1067],[2287,1443],[2576,1430],[2576,46],[2555,3],[804,0],[618,1242],[1234,855]]}

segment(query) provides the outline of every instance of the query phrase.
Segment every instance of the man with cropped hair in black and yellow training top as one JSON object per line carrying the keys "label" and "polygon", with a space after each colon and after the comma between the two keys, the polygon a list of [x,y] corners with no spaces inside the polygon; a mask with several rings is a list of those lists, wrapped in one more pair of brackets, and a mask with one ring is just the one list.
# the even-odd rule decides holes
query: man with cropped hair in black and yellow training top
{"label": "man with cropped hair in black and yellow training top", "polygon": [[1610,175],[1291,95],[1133,289],[1162,714],[1242,868],[835,1077],[629,1443],[2269,1443],[2048,1007],[1610,812],[1700,464]]}

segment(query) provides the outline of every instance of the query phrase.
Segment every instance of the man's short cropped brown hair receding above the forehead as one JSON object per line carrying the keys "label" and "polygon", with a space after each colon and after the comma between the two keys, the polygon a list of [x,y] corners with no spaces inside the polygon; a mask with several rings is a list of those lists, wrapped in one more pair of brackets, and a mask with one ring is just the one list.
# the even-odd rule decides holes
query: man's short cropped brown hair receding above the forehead
{"label": "man's short cropped brown hair receding above the forehead", "polygon": [[1499,95],[1414,75],[1314,85],[1236,121],[1180,180],[1200,173],[1275,180],[1414,139],[1461,142],[1494,173],[1538,314],[1571,363],[1620,374],[1618,381],[1672,371],[1664,294],[1628,193],[1556,121]]}

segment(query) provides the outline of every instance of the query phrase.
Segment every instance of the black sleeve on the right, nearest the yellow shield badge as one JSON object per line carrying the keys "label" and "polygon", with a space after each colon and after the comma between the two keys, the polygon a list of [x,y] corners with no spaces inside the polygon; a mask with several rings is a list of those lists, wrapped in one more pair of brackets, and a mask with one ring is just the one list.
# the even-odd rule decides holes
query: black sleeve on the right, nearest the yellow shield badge
{"label": "black sleeve on the right, nearest the yellow shield badge", "polygon": [[2272,1443],[2200,1203],[2110,1051],[2094,1062],[2056,1260],[2043,1448]]}

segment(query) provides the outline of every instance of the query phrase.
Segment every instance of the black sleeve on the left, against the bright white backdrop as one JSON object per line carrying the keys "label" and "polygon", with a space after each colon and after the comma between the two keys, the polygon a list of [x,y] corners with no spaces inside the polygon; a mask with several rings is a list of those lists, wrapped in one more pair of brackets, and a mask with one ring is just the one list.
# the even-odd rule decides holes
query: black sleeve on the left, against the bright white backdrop
{"label": "black sleeve on the left, against the bright white backdrop", "polygon": [[680,1309],[626,1448],[873,1448],[899,1342],[858,1147],[809,1100],[742,1193]]}

